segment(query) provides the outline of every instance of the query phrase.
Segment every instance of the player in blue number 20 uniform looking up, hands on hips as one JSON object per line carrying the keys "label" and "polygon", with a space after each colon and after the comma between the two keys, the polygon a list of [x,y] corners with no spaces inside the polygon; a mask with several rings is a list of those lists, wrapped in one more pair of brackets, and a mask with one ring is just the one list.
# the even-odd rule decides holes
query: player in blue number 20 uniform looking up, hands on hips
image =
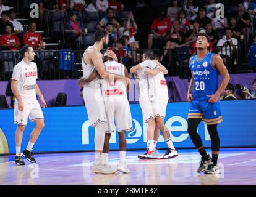
{"label": "player in blue number 20 uniform looking up, hands on hips", "polygon": [[[219,172],[217,160],[220,149],[217,126],[218,123],[223,121],[219,97],[227,86],[230,77],[222,58],[208,51],[209,40],[207,34],[198,34],[196,47],[197,55],[194,55],[189,61],[192,78],[187,92],[187,101],[190,102],[187,131],[202,156],[197,172],[217,174]],[[223,76],[219,88],[218,73]],[[207,124],[211,138],[212,158],[205,151],[202,140],[197,133],[198,124],[202,120]]]}

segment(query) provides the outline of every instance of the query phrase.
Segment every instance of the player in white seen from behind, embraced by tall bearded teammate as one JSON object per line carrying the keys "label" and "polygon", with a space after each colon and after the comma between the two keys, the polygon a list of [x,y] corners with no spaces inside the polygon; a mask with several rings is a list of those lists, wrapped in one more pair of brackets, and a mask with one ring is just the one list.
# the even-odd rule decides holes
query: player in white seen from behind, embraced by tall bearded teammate
{"label": "player in white seen from behind, embraced by tall bearded teammate", "polygon": [[[126,66],[114,61],[107,53],[105,56],[105,68],[113,74],[119,74],[129,78]],[[119,137],[119,165],[117,171],[129,173],[125,164],[126,158],[126,131],[132,130],[132,116],[130,114],[130,105],[127,100],[126,84],[122,80],[113,81],[104,79],[101,82],[103,99],[105,102],[106,116],[108,119],[108,129],[105,134],[105,143],[103,148],[103,158],[108,163],[109,140],[111,133],[115,131],[114,122],[116,122],[116,131]]]}

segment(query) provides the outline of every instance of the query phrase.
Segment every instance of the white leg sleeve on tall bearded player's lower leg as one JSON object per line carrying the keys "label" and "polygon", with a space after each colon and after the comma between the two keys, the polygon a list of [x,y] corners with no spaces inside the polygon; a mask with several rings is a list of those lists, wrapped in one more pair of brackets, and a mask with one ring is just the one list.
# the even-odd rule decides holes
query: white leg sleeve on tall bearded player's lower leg
{"label": "white leg sleeve on tall bearded player's lower leg", "polygon": [[106,124],[98,123],[95,126],[95,150],[103,150],[104,140],[105,140]]}

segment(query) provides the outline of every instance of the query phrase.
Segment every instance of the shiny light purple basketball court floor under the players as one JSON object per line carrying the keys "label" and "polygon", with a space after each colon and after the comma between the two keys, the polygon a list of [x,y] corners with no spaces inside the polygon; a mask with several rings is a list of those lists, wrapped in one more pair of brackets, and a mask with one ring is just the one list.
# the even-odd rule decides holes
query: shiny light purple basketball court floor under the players
{"label": "shiny light purple basketball court floor under the players", "polygon": [[[178,150],[172,159],[140,160],[145,151],[127,151],[129,174],[93,174],[94,152],[34,155],[36,164],[15,166],[14,156],[0,156],[0,184],[99,184],[99,185],[204,185],[256,184],[256,148],[223,148],[218,159],[220,174],[198,174],[196,150]],[[210,150],[207,150],[210,153]],[[160,150],[163,154],[164,150]],[[109,152],[109,163],[117,167],[119,152]]]}

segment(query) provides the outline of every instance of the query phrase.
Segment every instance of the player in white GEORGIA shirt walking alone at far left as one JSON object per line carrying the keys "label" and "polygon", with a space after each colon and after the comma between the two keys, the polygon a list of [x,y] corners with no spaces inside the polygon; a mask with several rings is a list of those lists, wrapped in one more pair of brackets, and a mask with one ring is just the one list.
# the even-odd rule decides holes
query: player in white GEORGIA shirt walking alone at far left
{"label": "player in white GEORGIA shirt walking alone at far left", "polygon": [[[16,156],[14,163],[19,166],[25,165],[22,156],[27,158],[31,163],[36,163],[32,148],[45,126],[43,112],[36,100],[36,94],[40,97],[41,106],[43,108],[47,107],[43,95],[36,84],[38,73],[36,63],[32,62],[35,57],[33,48],[25,45],[20,49],[20,54],[23,60],[15,65],[11,82],[11,89],[15,95],[14,124],[18,125],[15,132]],[[28,116],[30,121],[34,121],[36,125],[30,134],[27,148],[21,153],[20,147],[23,131],[27,125]]]}

